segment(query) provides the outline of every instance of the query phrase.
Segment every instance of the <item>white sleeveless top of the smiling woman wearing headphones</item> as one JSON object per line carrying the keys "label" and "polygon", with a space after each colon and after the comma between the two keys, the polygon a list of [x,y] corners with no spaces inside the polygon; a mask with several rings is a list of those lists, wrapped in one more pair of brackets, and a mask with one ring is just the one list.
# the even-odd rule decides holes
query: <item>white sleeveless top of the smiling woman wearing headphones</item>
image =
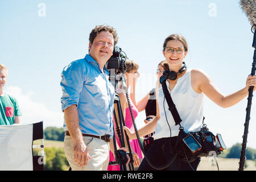
{"label": "white sleeveless top of the smiling woman wearing headphones", "polygon": [[[167,89],[169,89],[169,82],[166,80]],[[203,126],[203,107],[204,107],[204,94],[197,93],[191,86],[191,69],[187,69],[187,72],[177,79],[177,83],[174,89],[170,92],[172,100],[176,106],[176,109],[180,115],[180,125],[184,127],[185,132],[199,131]],[[163,106],[164,101],[164,106]],[[175,137],[179,134],[179,125],[175,126],[174,118],[171,111],[168,110],[168,104],[164,99],[164,93],[162,85],[159,87],[158,105],[160,111],[160,119],[156,125],[154,139]],[[164,113],[164,108],[166,114]],[[167,124],[167,121],[171,127]]]}

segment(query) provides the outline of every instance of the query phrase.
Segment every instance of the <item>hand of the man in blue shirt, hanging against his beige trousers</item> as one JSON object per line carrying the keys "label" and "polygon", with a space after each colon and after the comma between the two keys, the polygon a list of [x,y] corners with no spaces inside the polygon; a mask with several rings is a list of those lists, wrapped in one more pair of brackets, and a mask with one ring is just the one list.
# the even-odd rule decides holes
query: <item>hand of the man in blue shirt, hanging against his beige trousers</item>
{"label": "hand of the man in blue shirt, hanging against his beige trousers", "polygon": [[85,167],[89,159],[92,159],[87,151],[84,142],[77,142],[73,144],[74,160],[80,167]]}

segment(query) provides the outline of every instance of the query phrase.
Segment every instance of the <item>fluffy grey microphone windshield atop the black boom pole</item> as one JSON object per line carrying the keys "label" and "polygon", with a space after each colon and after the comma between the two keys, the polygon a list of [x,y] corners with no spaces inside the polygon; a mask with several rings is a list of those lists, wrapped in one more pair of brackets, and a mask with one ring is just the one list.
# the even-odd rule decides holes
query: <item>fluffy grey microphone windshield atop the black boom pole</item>
{"label": "fluffy grey microphone windshield atop the black boom pole", "polygon": [[256,0],[241,0],[240,5],[249,18],[249,21],[251,22],[251,25],[255,26],[253,27],[254,30],[256,29]]}

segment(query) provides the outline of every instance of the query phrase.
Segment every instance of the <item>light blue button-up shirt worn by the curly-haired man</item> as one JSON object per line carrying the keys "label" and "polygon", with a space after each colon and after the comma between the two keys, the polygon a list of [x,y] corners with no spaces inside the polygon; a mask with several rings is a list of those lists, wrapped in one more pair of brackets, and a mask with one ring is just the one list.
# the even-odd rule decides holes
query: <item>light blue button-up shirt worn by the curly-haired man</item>
{"label": "light blue button-up shirt worn by the curly-haired man", "polygon": [[[73,61],[61,73],[61,109],[76,104],[82,133],[113,136],[114,86],[109,72],[90,55]],[[67,125],[64,119],[64,130]]]}

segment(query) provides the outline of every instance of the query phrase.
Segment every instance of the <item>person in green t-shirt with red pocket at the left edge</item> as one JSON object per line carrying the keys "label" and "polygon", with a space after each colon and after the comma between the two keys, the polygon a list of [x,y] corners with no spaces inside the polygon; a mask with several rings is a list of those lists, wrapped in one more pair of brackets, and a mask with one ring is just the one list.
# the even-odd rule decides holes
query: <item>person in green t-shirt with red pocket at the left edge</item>
{"label": "person in green t-shirt with red pocket at the left edge", "polygon": [[16,98],[5,93],[3,87],[7,80],[8,70],[0,64],[0,125],[20,123],[21,112]]}

